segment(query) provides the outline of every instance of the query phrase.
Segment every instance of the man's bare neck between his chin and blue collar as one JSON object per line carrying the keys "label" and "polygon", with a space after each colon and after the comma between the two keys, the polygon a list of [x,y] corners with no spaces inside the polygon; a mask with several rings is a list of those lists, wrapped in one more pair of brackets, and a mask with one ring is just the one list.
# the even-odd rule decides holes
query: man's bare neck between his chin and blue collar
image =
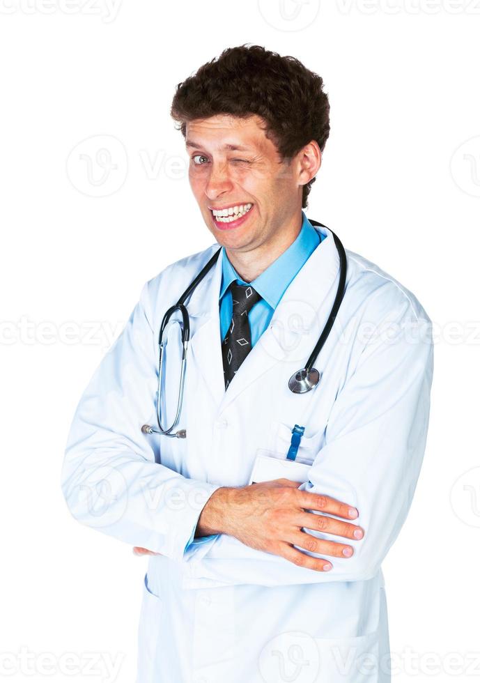
{"label": "man's bare neck between his chin and blue collar", "polygon": [[302,229],[302,215],[282,228],[269,242],[247,252],[232,252],[226,249],[226,255],[238,275],[245,282],[252,282],[295,242],[300,234],[300,229]]}

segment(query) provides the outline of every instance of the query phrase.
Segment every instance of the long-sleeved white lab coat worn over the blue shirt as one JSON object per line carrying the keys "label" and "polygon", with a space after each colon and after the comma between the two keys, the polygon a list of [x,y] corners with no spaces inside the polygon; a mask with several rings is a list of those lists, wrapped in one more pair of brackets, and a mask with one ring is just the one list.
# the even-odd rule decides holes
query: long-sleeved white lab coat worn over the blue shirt
{"label": "long-sleeved white lab coat worn over the blue shirt", "polygon": [[[156,425],[157,339],[167,307],[219,248],[165,268],[95,371],[75,413],[63,466],[76,519],[148,560],[139,627],[139,683],[385,683],[390,680],[380,565],[415,491],[433,372],[430,321],[415,296],[347,251],[346,294],[315,367],[316,390],[293,394],[330,314],[339,277],[332,233],[284,293],[267,330],[224,389],[219,336],[221,259],[188,303],[191,342],[180,427]],[[176,406],[178,325],[169,326],[167,416]],[[184,553],[219,486],[244,486],[256,454],[284,457],[294,424],[312,463],[302,488],[355,505],[364,539],[318,572],[227,535]],[[326,557],[324,555],[324,557]]]}

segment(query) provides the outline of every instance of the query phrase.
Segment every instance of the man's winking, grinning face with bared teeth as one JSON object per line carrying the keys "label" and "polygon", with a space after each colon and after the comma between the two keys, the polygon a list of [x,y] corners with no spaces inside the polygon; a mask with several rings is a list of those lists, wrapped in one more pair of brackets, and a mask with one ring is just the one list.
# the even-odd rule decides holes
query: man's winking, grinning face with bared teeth
{"label": "man's winking, grinning face with bared teeth", "polygon": [[291,243],[300,229],[302,185],[316,173],[302,153],[282,162],[262,125],[258,116],[226,114],[187,123],[189,183],[208,229],[229,252],[288,243],[295,231]]}

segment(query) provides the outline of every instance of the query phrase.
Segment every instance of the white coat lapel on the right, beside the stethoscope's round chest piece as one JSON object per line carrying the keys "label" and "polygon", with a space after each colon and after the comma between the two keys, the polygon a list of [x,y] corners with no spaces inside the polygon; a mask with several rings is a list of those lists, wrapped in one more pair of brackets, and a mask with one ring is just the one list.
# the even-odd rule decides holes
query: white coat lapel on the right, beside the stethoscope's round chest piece
{"label": "white coat lapel on the right, beside the stethoscope's round chest piece", "polygon": [[[339,282],[339,255],[332,232],[324,227],[321,232],[327,238],[286,289],[270,325],[224,392],[221,410],[235,401],[252,382],[261,380],[274,365],[279,365],[278,371],[285,374],[287,384],[292,372],[307,362],[330,315]],[[297,367],[286,372],[294,361]],[[268,401],[268,397],[265,400]]]}

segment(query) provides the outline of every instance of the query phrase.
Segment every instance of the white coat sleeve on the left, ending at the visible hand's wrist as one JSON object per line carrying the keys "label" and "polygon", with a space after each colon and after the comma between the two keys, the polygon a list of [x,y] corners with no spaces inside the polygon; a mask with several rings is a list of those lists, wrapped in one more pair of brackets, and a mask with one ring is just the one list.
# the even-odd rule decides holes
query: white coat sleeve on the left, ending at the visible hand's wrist
{"label": "white coat sleeve on the left, ending at the visible hand's wrist", "polygon": [[161,450],[162,437],[141,432],[155,409],[158,377],[148,286],[79,401],[61,486],[79,522],[179,559],[218,486],[155,462],[153,444]]}

